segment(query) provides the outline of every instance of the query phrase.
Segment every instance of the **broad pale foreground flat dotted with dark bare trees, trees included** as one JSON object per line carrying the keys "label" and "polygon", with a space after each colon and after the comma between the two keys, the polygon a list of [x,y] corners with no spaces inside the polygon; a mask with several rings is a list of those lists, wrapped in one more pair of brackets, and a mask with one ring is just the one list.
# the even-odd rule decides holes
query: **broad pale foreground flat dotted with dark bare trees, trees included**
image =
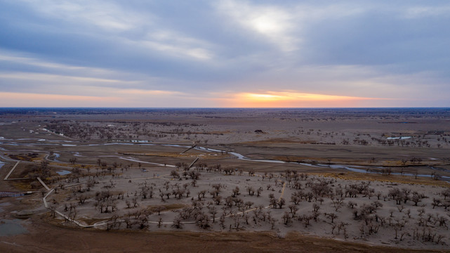
{"label": "broad pale foreground flat dotted with dark bare trees, trees included", "polygon": [[[48,197],[51,215],[95,219],[105,230],[296,231],[380,245],[448,244],[450,188],[209,168],[141,180],[131,179],[138,168],[64,179]],[[86,183],[65,187],[75,180]],[[58,195],[67,197],[52,198]]]}

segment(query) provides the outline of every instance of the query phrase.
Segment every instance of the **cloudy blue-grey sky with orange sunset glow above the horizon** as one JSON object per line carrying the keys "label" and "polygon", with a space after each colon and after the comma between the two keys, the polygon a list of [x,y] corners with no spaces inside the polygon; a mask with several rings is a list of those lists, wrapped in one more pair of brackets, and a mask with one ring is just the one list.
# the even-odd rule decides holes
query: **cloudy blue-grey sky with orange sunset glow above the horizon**
{"label": "cloudy blue-grey sky with orange sunset glow above the horizon", "polygon": [[450,107],[450,1],[0,0],[0,107]]}

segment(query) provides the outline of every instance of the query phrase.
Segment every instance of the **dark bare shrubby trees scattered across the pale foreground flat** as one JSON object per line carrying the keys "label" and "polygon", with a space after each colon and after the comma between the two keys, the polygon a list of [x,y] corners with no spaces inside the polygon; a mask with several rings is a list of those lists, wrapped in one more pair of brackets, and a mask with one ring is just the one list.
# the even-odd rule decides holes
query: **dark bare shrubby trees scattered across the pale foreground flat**
{"label": "dark bare shrubby trees scattered across the pale foreground flat", "polygon": [[[345,212],[348,212],[348,214],[352,213],[352,219],[359,223],[360,238],[368,238],[379,231],[392,231],[391,233],[395,234],[395,240],[412,237],[414,240],[440,243],[444,235],[439,232],[447,229],[448,217],[442,215],[442,212],[431,214],[418,211],[422,212],[418,213],[418,219],[411,219],[411,214],[414,214],[418,207],[423,209],[425,207],[423,202],[430,205],[430,210],[431,207],[447,209],[450,207],[450,189],[443,190],[430,202],[430,200],[424,200],[429,199],[428,196],[407,187],[392,188],[390,186],[388,190],[376,192],[370,181],[348,181],[341,184],[336,179],[310,176],[295,170],[286,170],[278,175],[269,173],[261,175],[260,179],[256,180],[264,182],[267,189],[265,186],[258,187],[251,183],[244,184],[244,189],[239,188],[241,185],[228,189],[228,185],[222,183],[212,183],[209,189],[205,189],[197,188],[200,171],[225,175],[229,172],[225,171],[220,164],[212,166],[211,169],[207,164],[197,164],[194,169],[181,163],[177,167],[171,171],[171,177],[179,180],[167,180],[158,184],[143,181],[139,183],[138,190],[131,193],[113,192],[111,188],[115,187],[115,182],[112,177],[109,183],[103,182],[104,190],[88,195],[91,188],[98,183],[98,177],[101,176],[101,174],[97,176],[89,174],[86,179],[87,187],[76,186],[72,188],[72,193],[78,205],[85,205],[85,202],[93,199],[93,206],[100,214],[112,215],[107,222],[108,230],[119,229],[121,224],[126,224],[128,229],[148,228],[150,223],[157,223],[159,227],[163,226],[162,217],[164,216],[160,214],[167,207],[143,205],[143,201],[154,198],[160,199],[163,203],[190,199],[190,205],[173,211],[176,212],[176,217],[170,225],[173,228],[183,228],[186,223],[194,223],[203,229],[209,229],[216,224],[222,229],[239,230],[244,226],[262,226],[263,224],[275,228],[281,223],[284,226],[308,229],[319,221],[326,221],[331,228],[331,233],[342,234],[344,238],[348,238],[349,224],[345,222],[348,221],[345,220],[348,219]],[[230,173],[234,174],[236,171],[232,169]],[[187,174],[183,175],[184,172]],[[191,176],[192,172],[197,176]],[[253,173],[249,175],[252,176]],[[265,190],[274,192],[274,188],[277,187],[283,190],[289,189],[290,198],[286,200],[270,192],[267,195],[263,194]],[[279,193],[282,193],[282,190],[279,190]],[[267,201],[266,197],[268,197],[269,208],[254,204],[253,201],[259,197],[263,201]],[[364,204],[361,204],[362,198],[366,198]],[[386,210],[383,210],[385,202],[392,202],[392,205],[397,206],[398,212],[391,209],[386,215]],[[74,203],[71,204],[72,209],[65,208],[65,212],[72,212],[70,214],[72,217],[77,215]],[[124,210],[128,210],[128,214],[121,214],[123,210],[117,212],[118,208],[123,206],[126,207]],[[157,221],[150,221],[152,214],[158,214]],[[411,229],[405,229],[406,227],[414,228],[414,233]]]}

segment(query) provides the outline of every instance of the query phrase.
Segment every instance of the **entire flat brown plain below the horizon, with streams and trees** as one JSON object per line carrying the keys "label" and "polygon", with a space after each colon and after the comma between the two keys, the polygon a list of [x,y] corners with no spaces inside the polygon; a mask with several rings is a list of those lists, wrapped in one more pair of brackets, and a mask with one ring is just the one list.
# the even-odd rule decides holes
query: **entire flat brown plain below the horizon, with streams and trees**
{"label": "entire flat brown plain below the horizon, with streams and trees", "polygon": [[3,109],[0,249],[443,251],[449,112]]}

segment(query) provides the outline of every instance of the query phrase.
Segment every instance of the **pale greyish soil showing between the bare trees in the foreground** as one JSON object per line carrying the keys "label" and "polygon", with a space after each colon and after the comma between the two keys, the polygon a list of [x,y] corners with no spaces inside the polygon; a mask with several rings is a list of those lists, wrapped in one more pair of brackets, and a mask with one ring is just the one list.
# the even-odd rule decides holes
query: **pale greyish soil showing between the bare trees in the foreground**
{"label": "pale greyish soil showing between the bare trees in the foreground", "polygon": [[[428,229],[431,229],[432,233],[437,233],[437,235],[444,235],[448,233],[448,230],[445,226],[438,226],[438,223],[432,224],[429,223],[429,226],[417,226],[417,220],[418,220],[418,209],[425,208],[427,211],[425,212],[424,216],[427,214],[432,214],[434,216],[444,216],[448,219],[449,212],[444,209],[444,207],[436,207],[435,209],[432,209],[431,202],[433,197],[440,197],[439,194],[444,190],[442,187],[435,187],[435,186],[423,186],[423,185],[413,185],[413,184],[402,184],[402,183],[389,183],[389,182],[379,182],[379,181],[372,181],[369,185],[370,188],[373,188],[374,193],[382,193],[382,195],[388,195],[388,191],[392,188],[408,188],[411,191],[417,191],[421,194],[424,194],[427,196],[427,198],[423,199],[421,202],[419,202],[419,205],[416,207],[414,206],[413,202],[409,201],[404,204],[402,202],[402,205],[396,205],[394,200],[390,200],[389,197],[380,197],[380,200],[378,200],[383,207],[380,207],[376,211],[376,215],[379,217],[383,217],[383,219],[386,219],[386,224],[383,226],[380,226],[378,233],[373,233],[369,235],[369,226],[364,226],[364,221],[362,220],[356,220],[354,219],[354,216],[352,214],[352,211],[355,209],[359,209],[359,207],[362,207],[363,205],[370,205],[372,202],[377,200],[376,196],[372,197],[363,197],[362,194],[359,194],[358,197],[345,197],[343,201],[343,207],[339,208],[338,211],[335,210],[333,207],[333,204],[331,203],[331,200],[329,197],[326,197],[326,195],[323,197],[324,202],[322,204],[319,204],[319,202],[315,202],[314,199],[312,199],[311,202],[302,200],[298,205],[298,211],[296,216],[302,216],[303,214],[310,214],[312,212],[312,206],[316,203],[319,205],[320,209],[319,212],[322,214],[319,216],[319,219],[317,221],[310,221],[310,226],[305,227],[303,221],[298,221],[298,218],[294,218],[291,223],[288,223],[285,225],[282,220],[282,215],[284,212],[289,212],[288,205],[291,205],[289,203],[291,194],[295,192],[296,190],[293,189],[291,186],[283,187],[282,183],[277,183],[277,186],[275,186],[275,179],[272,179],[269,181],[267,178],[262,179],[260,176],[225,176],[223,174],[219,173],[206,173],[202,172],[201,179],[197,181],[197,187],[188,186],[187,189],[190,190],[190,197],[183,196],[180,200],[174,198],[171,196],[169,199],[166,198],[164,195],[164,202],[161,201],[161,198],[158,196],[158,192],[161,189],[163,193],[170,193],[172,189],[176,188],[176,184],[179,184],[180,186],[183,186],[185,182],[190,183],[189,181],[178,181],[178,180],[171,180],[169,176],[163,176],[158,179],[152,179],[152,174],[157,174],[161,176],[161,174],[165,174],[167,171],[164,171],[164,169],[154,169],[150,170],[148,172],[140,172],[138,169],[130,169],[129,171],[124,172],[124,175],[119,177],[118,179],[115,179],[115,185],[114,188],[110,188],[110,190],[113,193],[117,193],[118,191],[124,191],[124,199],[117,200],[117,211],[114,212],[114,215],[120,216],[120,219],[124,219],[124,217],[131,213],[137,212],[139,210],[148,209],[149,207],[154,206],[164,206],[167,208],[171,208],[173,205],[180,205],[180,207],[183,206],[190,206],[192,205],[191,202],[191,196],[194,197],[194,200],[197,200],[198,196],[197,193],[199,193],[201,190],[206,191],[206,195],[204,198],[204,203],[208,203],[209,201],[213,201],[213,198],[209,194],[213,189],[211,186],[213,184],[220,183],[223,188],[220,191],[220,195],[223,197],[232,195],[232,189],[234,189],[236,186],[239,186],[240,188],[240,197],[244,202],[251,201],[253,202],[253,206],[250,209],[253,209],[254,207],[262,206],[267,207],[263,209],[263,212],[270,212],[271,215],[274,217],[274,219],[277,219],[276,225],[274,228],[271,228],[271,225],[269,222],[263,222],[258,221],[256,223],[253,221],[253,212],[247,212],[246,214],[249,216],[249,224],[245,222],[245,218],[242,217],[242,214],[239,212],[239,210],[236,207],[233,207],[232,209],[229,209],[228,212],[232,212],[235,215],[239,216],[239,223],[240,226],[236,226],[236,220],[232,217],[227,217],[224,226],[221,226],[218,222],[219,216],[222,214],[221,208],[224,207],[223,203],[221,205],[212,204],[211,206],[217,207],[218,214],[216,215],[216,223],[211,223],[211,228],[207,228],[206,231],[273,231],[274,233],[277,233],[278,235],[284,236],[286,233],[289,232],[298,232],[303,235],[315,235],[315,236],[321,236],[326,238],[333,238],[336,240],[345,240],[350,242],[370,242],[373,245],[394,245],[394,246],[401,246],[401,247],[412,247],[412,248],[423,248],[426,247],[427,249],[444,249],[446,248],[446,245],[450,243],[450,238],[444,238],[439,245],[432,243],[432,242],[423,242],[422,240],[414,240],[412,232],[414,228],[418,228],[420,231],[425,229],[428,231]],[[135,180],[139,178],[147,178],[150,176],[150,179],[145,180]],[[281,180],[279,175],[277,176],[277,180]],[[311,177],[313,178],[313,176]],[[93,196],[93,193],[100,190],[105,190],[105,188],[102,188],[102,186],[108,186],[110,185],[110,182],[108,181],[108,177],[105,178],[100,177],[102,182],[99,183],[98,186],[95,186],[94,188],[91,188],[90,193],[82,193]],[[124,180],[125,179],[125,180]],[[131,182],[128,180],[132,179]],[[169,179],[168,181],[165,179]],[[350,180],[342,180],[342,179],[331,179],[331,178],[322,178],[319,177],[317,179],[321,180],[328,180],[332,181],[331,188],[348,188],[351,184],[357,184],[360,181],[350,181]],[[147,185],[152,186],[154,188],[156,196],[154,196],[152,199],[143,199],[143,197],[140,195],[140,187],[143,186],[143,183],[146,182]],[[164,184],[168,182],[170,183],[169,189],[166,190],[164,187]],[[303,185],[307,181],[300,181]],[[313,181],[317,182],[317,181]],[[369,181],[364,181],[369,182]],[[246,192],[246,187],[251,186],[254,189],[257,189],[258,187],[263,187],[263,193],[261,193],[261,197],[250,196]],[[268,187],[267,187],[268,186]],[[267,190],[267,188],[270,188],[270,190]],[[284,191],[283,191],[284,188]],[[305,190],[307,192],[308,190]],[[135,193],[135,194],[133,194]],[[284,197],[287,200],[287,204],[283,209],[273,209],[272,207],[268,207],[270,205],[269,198],[267,197],[270,193],[273,193],[275,197]],[[283,193],[283,195],[282,195]],[[80,195],[81,193],[78,193]],[[70,195],[72,197],[62,197]],[[72,202],[74,205],[77,206],[77,216],[79,221],[87,221],[86,224],[91,224],[93,222],[89,222],[90,220],[93,220],[95,222],[107,220],[109,219],[112,214],[100,214],[98,209],[95,209],[94,204],[95,200],[86,200],[86,203],[84,205],[78,205],[77,200],[74,200],[77,195],[72,194],[72,189],[67,189],[65,191],[65,194],[60,190],[58,194],[51,195],[51,197],[48,197],[49,202],[55,198],[58,201],[58,204],[56,206],[57,209],[60,212],[64,213],[63,210],[63,204],[67,204]],[[138,207],[131,207],[127,208],[125,205],[126,200],[130,201],[133,199],[134,196],[138,197]],[[357,203],[357,207],[355,209],[351,209],[350,207],[347,207],[348,202],[355,202]],[[69,204],[67,204],[69,205]],[[178,207],[178,208],[180,208]],[[397,207],[404,207],[404,210],[402,212],[399,212],[399,209]],[[208,209],[204,207],[204,212],[207,214]],[[247,208],[249,210],[249,208]],[[392,210],[392,218],[390,218],[390,211]],[[410,216],[407,216],[406,211],[409,210]],[[171,222],[175,219],[178,212],[173,212],[174,210],[161,212],[161,215],[158,214],[152,214],[148,216],[148,219],[150,222],[150,231],[178,231],[176,228],[171,228]],[[67,214],[67,212],[65,212]],[[345,236],[342,231],[340,233],[336,231],[333,231],[331,233],[331,229],[333,226],[333,223],[331,223],[330,219],[327,219],[326,216],[324,216],[325,213],[335,213],[338,218],[333,221],[333,223],[339,224],[340,222],[348,223],[347,226],[347,233],[348,236]],[[375,213],[374,213],[375,214]],[[229,214],[227,214],[229,215]],[[157,227],[157,221],[159,221],[159,218],[162,220],[161,228]],[[211,218],[211,214],[209,214],[209,219]],[[405,227],[402,228],[402,231],[398,232],[398,236],[400,237],[401,233],[404,233],[407,231],[407,233],[404,234],[404,238],[402,238],[402,241],[399,239],[395,239],[395,231],[393,229],[393,225],[389,226],[388,223],[390,223],[388,220],[391,219],[391,223],[398,223],[399,221],[408,221],[405,224]],[[133,220],[133,219],[132,219]],[[194,219],[187,219],[184,220],[187,222],[194,221]],[[379,222],[371,221],[374,225],[378,224]],[[448,223],[448,222],[447,222]],[[125,228],[125,224],[122,223],[119,225],[121,229]],[[361,233],[359,231],[360,226],[364,226],[364,233]],[[133,227],[137,227],[133,226]],[[239,229],[237,229],[237,227]],[[99,228],[105,229],[106,226],[100,226]],[[118,229],[118,228],[114,228]],[[195,224],[185,224],[183,231],[204,231],[201,228],[198,228]],[[421,232],[423,233],[423,231]]]}

